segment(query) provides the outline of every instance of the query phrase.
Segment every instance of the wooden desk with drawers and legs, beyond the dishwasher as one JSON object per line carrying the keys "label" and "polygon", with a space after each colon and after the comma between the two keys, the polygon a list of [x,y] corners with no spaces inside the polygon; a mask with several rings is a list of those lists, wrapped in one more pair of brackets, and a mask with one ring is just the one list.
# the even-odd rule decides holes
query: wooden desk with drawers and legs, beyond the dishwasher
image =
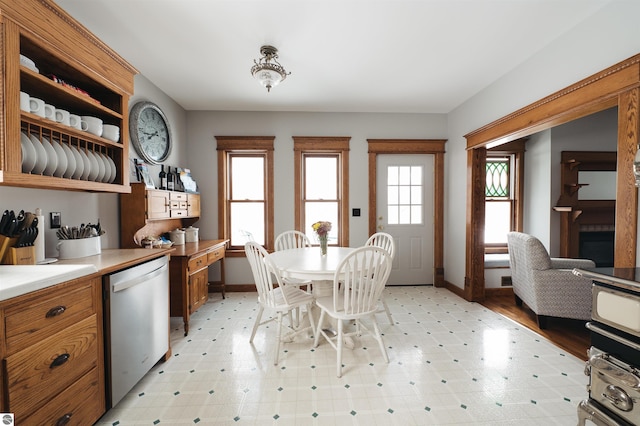
{"label": "wooden desk with drawers and legs, beyond the dishwasher", "polygon": [[201,240],[174,246],[169,261],[170,314],[182,317],[184,335],[189,333],[189,319],[209,298],[209,266],[220,262],[224,286],[224,256],[228,240]]}

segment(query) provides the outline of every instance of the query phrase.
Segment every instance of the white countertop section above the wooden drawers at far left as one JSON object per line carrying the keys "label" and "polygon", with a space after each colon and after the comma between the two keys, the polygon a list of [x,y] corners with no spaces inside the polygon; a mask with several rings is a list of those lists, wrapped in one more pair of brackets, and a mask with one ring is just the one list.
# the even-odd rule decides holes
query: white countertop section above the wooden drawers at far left
{"label": "white countertop section above the wooden drawers at far left", "polygon": [[96,272],[94,265],[0,265],[0,301]]}

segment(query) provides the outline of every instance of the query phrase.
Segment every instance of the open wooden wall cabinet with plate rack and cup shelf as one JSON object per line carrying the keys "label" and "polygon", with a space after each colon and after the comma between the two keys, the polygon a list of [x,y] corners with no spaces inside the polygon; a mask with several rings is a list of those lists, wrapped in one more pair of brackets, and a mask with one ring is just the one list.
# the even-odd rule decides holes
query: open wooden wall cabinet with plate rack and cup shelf
{"label": "open wooden wall cabinet with plate rack and cup shelf", "polygon": [[[51,0],[0,0],[0,19],[0,185],[129,192],[128,104],[137,70]],[[37,70],[22,63],[20,55],[31,59]],[[71,114],[116,125],[120,140],[23,111],[21,91]],[[37,149],[48,142],[60,144],[67,151],[65,164],[72,161],[69,154],[73,158],[77,153],[74,164],[82,158],[83,169],[90,172],[85,176],[66,167],[49,174],[23,169],[21,132],[32,135]]]}

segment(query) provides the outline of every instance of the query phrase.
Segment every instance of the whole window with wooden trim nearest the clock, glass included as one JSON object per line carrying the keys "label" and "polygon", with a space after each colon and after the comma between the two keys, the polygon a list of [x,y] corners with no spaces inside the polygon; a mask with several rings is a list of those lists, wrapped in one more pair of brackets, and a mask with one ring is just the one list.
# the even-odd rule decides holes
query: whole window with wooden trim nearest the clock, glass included
{"label": "whole window with wooden trim nearest the clock, glass included", "polygon": [[273,146],[275,137],[216,136],[218,232],[228,252],[247,241],[273,247]]}

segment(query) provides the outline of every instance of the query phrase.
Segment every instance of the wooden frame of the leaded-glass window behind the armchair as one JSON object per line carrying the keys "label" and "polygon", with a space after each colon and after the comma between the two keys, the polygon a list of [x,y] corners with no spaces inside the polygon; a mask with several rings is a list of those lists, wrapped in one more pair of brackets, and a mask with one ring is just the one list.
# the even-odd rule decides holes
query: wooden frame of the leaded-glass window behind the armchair
{"label": "wooden frame of the leaded-glass window behind the armchair", "polygon": [[[510,201],[511,201],[511,225],[509,229],[511,231],[522,232],[523,222],[523,195],[524,195],[524,152],[525,143],[527,138],[518,139],[513,142],[509,142],[493,149],[487,150],[486,158],[492,157],[509,157],[509,184],[511,185]],[[486,160],[485,160],[486,163]],[[485,166],[485,179],[486,179],[486,166]],[[486,183],[485,183],[486,187]],[[483,193],[485,193],[483,191]],[[489,197],[491,198],[491,197]],[[485,195],[485,204],[490,202]],[[486,219],[485,219],[486,223]],[[484,229],[484,227],[483,227]],[[484,238],[483,238],[484,240]],[[509,249],[507,243],[489,244],[484,243],[485,254],[490,253],[508,253]]]}

